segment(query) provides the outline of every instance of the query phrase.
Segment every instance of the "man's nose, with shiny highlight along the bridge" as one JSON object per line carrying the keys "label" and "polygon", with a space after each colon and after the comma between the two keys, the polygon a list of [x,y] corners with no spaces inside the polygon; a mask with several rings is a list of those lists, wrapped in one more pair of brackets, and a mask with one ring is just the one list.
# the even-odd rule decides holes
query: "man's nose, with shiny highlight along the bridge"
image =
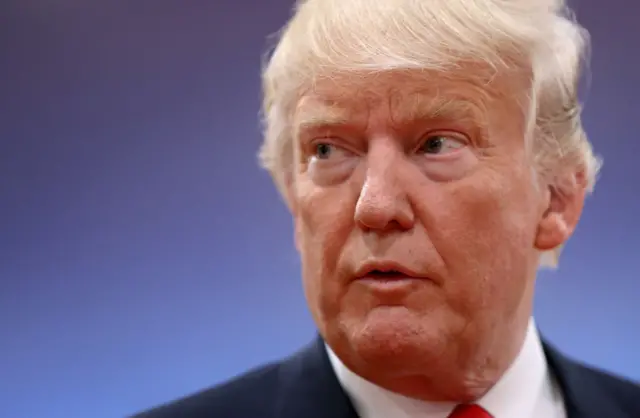
{"label": "man's nose, with shiny highlight along the bridge", "polygon": [[407,184],[399,173],[407,164],[401,150],[370,145],[367,171],[356,204],[355,221],[367,230],[408,230],[415,214],[407,196]]}

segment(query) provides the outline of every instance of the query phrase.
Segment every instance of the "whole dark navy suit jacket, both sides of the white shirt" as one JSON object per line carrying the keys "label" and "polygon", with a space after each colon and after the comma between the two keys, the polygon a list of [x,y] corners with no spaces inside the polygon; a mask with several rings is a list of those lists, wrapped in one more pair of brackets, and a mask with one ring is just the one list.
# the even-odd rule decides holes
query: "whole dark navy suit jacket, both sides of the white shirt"
{"label": "whole dark navy suit jacket, both sides of the white shirt", "polygon": [[[544,344],[568,418],[640,418],[640,386]],[[320,338],[293,356],[133,418],[358,418]],[[516,418],[516,417],[514,417]],[[544,418],[544,417],[540,417]]]}

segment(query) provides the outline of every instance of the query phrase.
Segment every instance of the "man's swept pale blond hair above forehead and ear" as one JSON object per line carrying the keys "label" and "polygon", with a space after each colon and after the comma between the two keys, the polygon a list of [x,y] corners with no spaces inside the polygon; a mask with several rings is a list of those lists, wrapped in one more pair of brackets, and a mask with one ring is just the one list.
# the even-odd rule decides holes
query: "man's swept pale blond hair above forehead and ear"
{"label": "man's swept pale blond hair above forehead and ear", "polygon": [[[320,77],[478,62],[530,74],[524,137],[536,174],[560,193],[579,175],[590,192],[600,161],[577,92],[587,47],[562,0],[299,1],[263,71],[261,165],[288,200],[293,110]],[[556,266],[560,251],[542,254],[541,266]]]}

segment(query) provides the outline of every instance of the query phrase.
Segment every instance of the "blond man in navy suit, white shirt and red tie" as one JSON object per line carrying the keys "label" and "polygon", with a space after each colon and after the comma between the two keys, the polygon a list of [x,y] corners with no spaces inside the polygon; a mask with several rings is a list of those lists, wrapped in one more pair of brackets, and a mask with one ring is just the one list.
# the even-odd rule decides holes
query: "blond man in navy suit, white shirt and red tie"
{"label": "blond man in navy suit, white shirt and red tie", "polygon": [[262,161],[320,337],[141,417],[640,417],[542,342],[599,163],[561,0],[307,0],[264,71]]}

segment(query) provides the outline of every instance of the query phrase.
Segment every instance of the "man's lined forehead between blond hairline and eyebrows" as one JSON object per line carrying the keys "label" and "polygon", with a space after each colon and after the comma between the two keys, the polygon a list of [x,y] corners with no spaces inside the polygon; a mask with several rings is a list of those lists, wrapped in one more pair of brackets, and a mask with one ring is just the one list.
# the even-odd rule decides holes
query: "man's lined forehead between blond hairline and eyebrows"
{"label": "man's lined forehead between blond hairline and eyebrows", "polygon": [[302,95],[293,125],[299,130],[353,123],[371,112],[383,112],[398,123],[425,117],[477,119],[491,107],[520,103],[515,92],[526,93],[523,83],[516,86],[508,77],[466,74],[416,71],[327,77]]}

